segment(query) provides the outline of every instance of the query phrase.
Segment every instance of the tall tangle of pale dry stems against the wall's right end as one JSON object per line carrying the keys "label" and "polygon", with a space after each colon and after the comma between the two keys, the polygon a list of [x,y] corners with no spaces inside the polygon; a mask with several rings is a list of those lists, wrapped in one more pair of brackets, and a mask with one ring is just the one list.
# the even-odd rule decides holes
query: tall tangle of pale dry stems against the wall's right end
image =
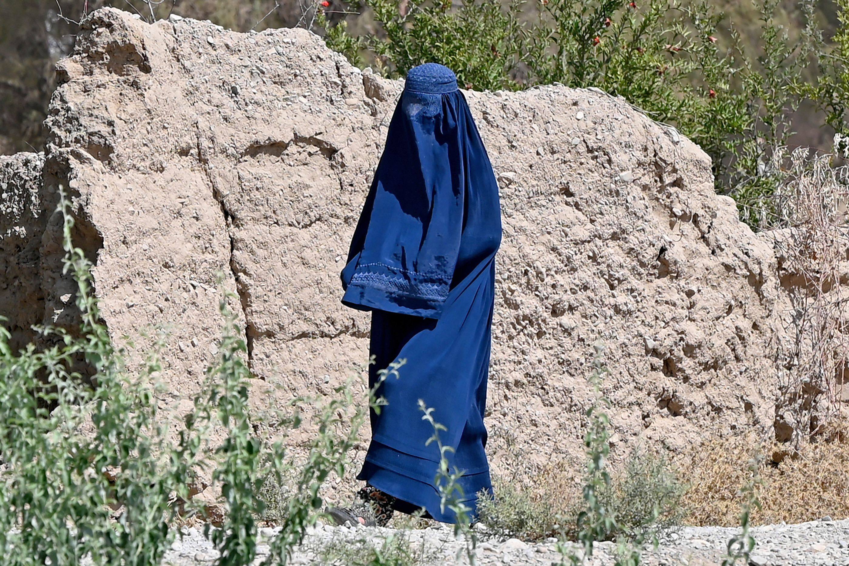
{"label": "tall tangle of pale dry stems against the wall's right end", "polygon": [[763,207],[765,227],[790,298],[790,345],[779,350],[776,438],[793,447],[836,417],[849,378],[849,167],[830,154],[778,149],[770,165],[779,180]]}

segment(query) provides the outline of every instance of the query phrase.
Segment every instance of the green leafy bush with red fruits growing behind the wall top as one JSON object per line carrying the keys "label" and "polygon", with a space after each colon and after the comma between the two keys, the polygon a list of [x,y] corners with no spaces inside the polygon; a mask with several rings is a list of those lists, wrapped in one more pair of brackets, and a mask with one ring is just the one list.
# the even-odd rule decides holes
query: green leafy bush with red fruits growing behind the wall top
{"label": "green leafy bush with red fruits growing behind the wall top", "polygon": [[[352,61],[374,60],[387,76],[417,64],[451,67],[467,88],[518,89],[560,82],[599,87],[668,122],[713,159],[717,190],[738,200],[757,226],[757,204],[775,189],[764,169],[786,145],[804,100],[842,132],[849,108],[849,5],[840,0],[834,42],[818,29],[812,0],[791,39],[779,0],[758,0],[758,53],[743,47],[709,0],[543,0],[534,3],[363,0],[377,31],[354,37],[325,26],[332,48]],[[748,22],[746,22],[748,24]],[[344,25],[344,24],[342,24]],[[725,27],[730,32],[723,32]],[[818,81],[804,76],[818,68]]]}

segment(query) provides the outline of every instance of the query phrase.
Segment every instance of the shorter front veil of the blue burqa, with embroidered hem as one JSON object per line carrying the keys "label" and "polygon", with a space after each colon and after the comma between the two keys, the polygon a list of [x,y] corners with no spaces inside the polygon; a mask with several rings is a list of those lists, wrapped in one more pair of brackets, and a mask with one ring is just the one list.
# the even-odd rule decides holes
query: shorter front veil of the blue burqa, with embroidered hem
{"label": "shorter front veil of the blue burqa, with embroidered hem", "polygon": [[440,94],[402,92],[342,270],[342,303],[439,318],[457,264],[464,164]]}

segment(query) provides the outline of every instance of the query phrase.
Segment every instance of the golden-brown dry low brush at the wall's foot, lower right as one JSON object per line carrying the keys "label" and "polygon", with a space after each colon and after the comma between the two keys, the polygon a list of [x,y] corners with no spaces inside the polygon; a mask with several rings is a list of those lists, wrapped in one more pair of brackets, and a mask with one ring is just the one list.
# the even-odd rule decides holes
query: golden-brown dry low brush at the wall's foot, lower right
{"label": "golden-brown dry low brush at the wall's foot, lower right", "polygon": [[[800,447],[781,462],[771,459],[786,446],[760,444],[752,435],[709,440],[677,459],[679,474],[689,483],[684,496],[685,524],[738,524],[740,487],[749,479],[746,462],[760,450],[761,508],[752,524],[800,523],[829,515],[849,518],[849,423],[831,425],[828,434]],[[780,449],[780,450],[779,450]]]}

